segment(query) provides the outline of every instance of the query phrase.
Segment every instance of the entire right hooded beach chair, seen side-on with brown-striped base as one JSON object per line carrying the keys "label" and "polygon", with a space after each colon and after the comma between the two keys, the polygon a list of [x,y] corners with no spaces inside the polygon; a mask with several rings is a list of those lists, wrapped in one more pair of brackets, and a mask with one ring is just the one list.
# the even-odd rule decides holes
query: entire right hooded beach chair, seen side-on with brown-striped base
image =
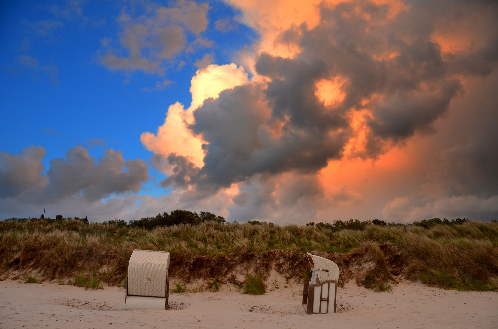
{"label": "entire right hooded beach chair, seen side-on with brown-striped base", "polygon": [[312,255],[309,252],[306,255],[312,275],[311,279],[304,280],[304,310],[307,314],[329,313],[329,301],[333,301],[334,313],[336,313],[339,266],[327,258]]}

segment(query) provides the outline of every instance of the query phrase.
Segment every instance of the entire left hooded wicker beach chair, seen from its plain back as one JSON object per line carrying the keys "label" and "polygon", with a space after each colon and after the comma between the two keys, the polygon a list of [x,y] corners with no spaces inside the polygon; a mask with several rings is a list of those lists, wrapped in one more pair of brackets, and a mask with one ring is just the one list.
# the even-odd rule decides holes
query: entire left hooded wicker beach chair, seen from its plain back
{"label": "entire left hooded wicker beach chair, seen from its plain back", "polygon": [[169,252],[135,249],[126,277],[125,310],[165,310],[169,296]]}

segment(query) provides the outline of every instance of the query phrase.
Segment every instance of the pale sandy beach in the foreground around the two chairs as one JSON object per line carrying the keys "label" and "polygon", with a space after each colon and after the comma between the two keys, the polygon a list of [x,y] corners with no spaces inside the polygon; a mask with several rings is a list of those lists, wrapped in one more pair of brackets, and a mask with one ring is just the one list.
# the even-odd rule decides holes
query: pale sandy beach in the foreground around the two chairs
{"label": "pale sandy beach in the foreground around the two chairs", "polygon": [[300,289],[280,286],[249,296],[223,286],[216,293],[170,294],[170,302],[184,303],[182,310],[124,311],[122,288],[5,280],[0,328],[498,328],[497,292],[401,282],[392,293],[375,293],[349,283],[338,288],[338,313],[306,315]]}

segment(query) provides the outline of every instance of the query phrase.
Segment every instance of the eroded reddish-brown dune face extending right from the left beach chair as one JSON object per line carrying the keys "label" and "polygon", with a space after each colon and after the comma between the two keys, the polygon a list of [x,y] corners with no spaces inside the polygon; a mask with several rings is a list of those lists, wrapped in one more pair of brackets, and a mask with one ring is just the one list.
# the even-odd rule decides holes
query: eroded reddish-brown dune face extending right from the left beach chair
{"label": "eroded reddish-brown dune face extending right from the left beach chair", "polygon": [[[383,271],[385,274],[378,275],[383,282],[395,282],[394,277],[401,275],[405,269],[405,259],[390,243],[378,247],[381,250],[382,269],[378,268],[379,261],[375,259],[372,251],[366,250],[368,247],[360,247],[348,253],[328,253],[318,250],[312,250],[311,253],[331,259],[338,264],[341,273],[340,284],[355,279],[358,285],[364,285],[365,275],[369,270]],[[197,279],[218,279],[225,284],[240,285],[243,283],[245,273],[260,275],[267,284],[272,280],[271,273],[278,273],[287,280],[301,282],[310,272],[310,265],[305,253],[274,249],[263,252],[238,252],[217,257],[196,256],[171,263],[170,269],[174,278],[187,283]]]}

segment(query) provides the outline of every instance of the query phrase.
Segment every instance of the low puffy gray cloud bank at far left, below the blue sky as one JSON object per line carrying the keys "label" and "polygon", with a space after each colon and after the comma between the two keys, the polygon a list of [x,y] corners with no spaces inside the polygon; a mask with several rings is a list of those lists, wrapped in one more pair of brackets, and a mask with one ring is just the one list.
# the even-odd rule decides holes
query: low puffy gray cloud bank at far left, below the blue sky
{"label": "low puffy gray cloud bank at far left, below the blue sky", "polygon": [[50,160],[46,175],[41,165],[44,156],[44,148],[34,146],[24,148],[20,155],[1,152],[0,197],[54,203],[82,194],[87,201],[95,201],[113,193],[136,193],[149,178],[143,161],[124,161],[122,152],[112,149],[96,162],[86,149],[75,146],[65,159]]}

